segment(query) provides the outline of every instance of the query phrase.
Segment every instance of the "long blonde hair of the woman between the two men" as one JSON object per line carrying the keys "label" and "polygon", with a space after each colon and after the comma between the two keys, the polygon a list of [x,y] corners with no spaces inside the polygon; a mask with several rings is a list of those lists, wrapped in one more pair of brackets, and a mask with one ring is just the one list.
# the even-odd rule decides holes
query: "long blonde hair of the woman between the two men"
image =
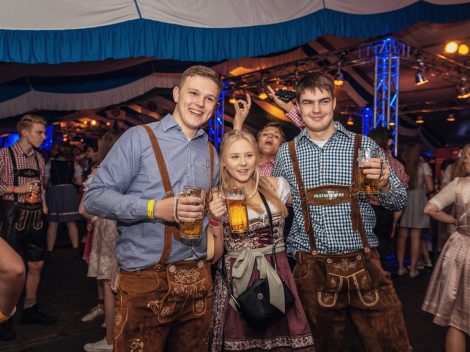
{"label": "long blonde hair of the woman between the two men", "polygon": [[[239,131],[239,130],[232,130],[224,135],[224,138],[222,140],[222,144],[220,146],[220,155],[222,162],[220,163],[220,187],[222,189],[222,192],[227,191],[231,187],[234,186],[234,182],[232,177],[227,171],[227,168],[225,167],[225,158],[226,158],[226,152],[227,149],[236,141],[244,139],[248,143],[250,143],[253,152],[255,154],[255,164],[256,168],[255,171],[253,172],[253,175],[251,175],[251,178],[253,182],[255,183],[255,189],[257,189],[259,192],[261,192],[265,197],[268,202],[271,202],[273,204],[278,213],[280,213],[283,217],[287,216],[287,208],[284,202],[279,198],[277,195],[276,190],[274,189],[272,183],[268,180],[267,177],[260,177],[259,176],[259,169],[258,169],[258,160],[259,160],[259,152],[258,152],[258,146],[255,140],[255,137],[251,133],[245,132],[245,131]],[[251,199],[247,197],[247,206],[248,208],[251,208],[255,210],[256,212],[263,212],[264,206],[260,206],[259,204],[254,203]]]}

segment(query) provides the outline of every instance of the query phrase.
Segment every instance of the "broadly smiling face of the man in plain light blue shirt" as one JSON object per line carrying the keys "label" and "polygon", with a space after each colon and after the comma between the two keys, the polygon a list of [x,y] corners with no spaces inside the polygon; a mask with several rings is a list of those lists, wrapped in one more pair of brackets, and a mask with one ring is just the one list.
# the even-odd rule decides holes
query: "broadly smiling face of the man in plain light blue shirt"
{"label": "broadly smiling face of the man in plain light blue shirt", "polygon": [[176,102],[173,117],[190,139],[212,116],[217,105],[219,87],[209,78],[193,75],[181,87],[173,89]]}

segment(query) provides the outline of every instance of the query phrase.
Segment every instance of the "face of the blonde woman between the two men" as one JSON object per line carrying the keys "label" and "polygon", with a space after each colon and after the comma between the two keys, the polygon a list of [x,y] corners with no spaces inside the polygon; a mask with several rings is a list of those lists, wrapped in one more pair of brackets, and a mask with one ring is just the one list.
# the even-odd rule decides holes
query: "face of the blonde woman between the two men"
{"label": "face of the blonde woman between the two men", "polygon": [[236,185],[243,185],[252,179],[258,167],[256,152],[250,142],[241,138],[224,151],[223,163],[227,173]]}

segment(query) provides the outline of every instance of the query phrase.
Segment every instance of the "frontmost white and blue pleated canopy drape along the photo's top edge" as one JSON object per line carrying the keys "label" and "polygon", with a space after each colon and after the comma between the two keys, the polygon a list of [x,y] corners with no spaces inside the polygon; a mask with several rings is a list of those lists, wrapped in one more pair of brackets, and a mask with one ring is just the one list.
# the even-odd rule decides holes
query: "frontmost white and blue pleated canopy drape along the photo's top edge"
{"label": "frontmost white and blue pleated canopy drape along the photo's top edge", "polygon": [[1,6],[0,61],[28,64],[256,57],[325,34],[374,37],[470,13],[462,0],[15,0]]}

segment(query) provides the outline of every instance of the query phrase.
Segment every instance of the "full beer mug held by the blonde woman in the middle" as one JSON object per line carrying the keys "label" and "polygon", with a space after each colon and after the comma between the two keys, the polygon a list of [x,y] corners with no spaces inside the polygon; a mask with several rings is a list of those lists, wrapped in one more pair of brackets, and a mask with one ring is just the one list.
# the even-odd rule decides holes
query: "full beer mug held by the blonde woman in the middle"
{"label": "full beer mug held by the blonde woman in the middle", "polygon": [[228,220],[233,233],[243,234],[248,231],[248,211],[243,187],[233,187],[225,192]]}

